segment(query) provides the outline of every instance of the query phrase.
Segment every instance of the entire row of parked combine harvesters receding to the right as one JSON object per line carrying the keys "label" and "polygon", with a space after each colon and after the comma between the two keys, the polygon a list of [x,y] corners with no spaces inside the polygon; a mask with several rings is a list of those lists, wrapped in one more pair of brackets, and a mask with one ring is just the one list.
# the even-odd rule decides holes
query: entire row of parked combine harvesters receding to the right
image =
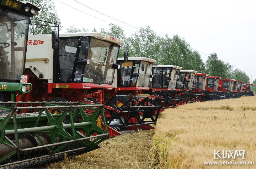
{"label": "entire row of parked combine harvesters receding to the right", "polygon": [[93,151],[153,129],[164,108],[253,95],[252,84],[128,57],[124,41],[106,34],[28,35],[40,9],[0,2],[0,168]]}

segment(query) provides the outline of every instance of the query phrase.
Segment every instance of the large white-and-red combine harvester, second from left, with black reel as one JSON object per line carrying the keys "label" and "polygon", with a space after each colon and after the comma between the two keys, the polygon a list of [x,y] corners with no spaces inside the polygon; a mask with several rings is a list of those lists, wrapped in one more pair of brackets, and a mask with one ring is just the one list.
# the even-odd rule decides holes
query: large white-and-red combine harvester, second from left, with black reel
{"label": "large white-and-red combine harvester, second from left, with black reel", "polygon": [[[28,44],[25,75],[32,84],[32,91],[17,96],[18,101],[75,101],[82,105],[105,104],[106,117],[100,117],[107,120],[110,136],[119,135],[116,130],[153,128],[150,124],[156,124],[157,116],[153,118],[148,114],[159,112],[160,106],[153,101],[150,102],[147,97],[140,102],[133,96],[127,96],[131,99],[129,101],[123,100],[124,96],[119,96],[117,88],[113,88],[115,69],[122,69],[121,61],[117,63],[117,57],[124,41],[96,32],[68,33],[57,37],[55,32],[52,36],[48,34],[28,36],[31,44]],[[35,56],[34,51],[39,51],[41,55]],[[124,55],[127,58],[126,52]],[[150,61],[138,60],[138,62],[140,65],[138,74],[148,73],[147,69],[151,71]],[[129,64],[128,61],[123,63]],[[135,65],[137,64],[136,62]],[[142,79],[142,83],[146,83],[143,81],[146,75],[142,77],[133,75],[131,77]],[[129,86],[128,90],[129,88],[132,87]],[[120,105],[118,102],[126,104]],[[30,103],[26,106],[30,106]],[[58,108],[51,109],[50,112],[63,113]],[[93,112],[87,111],[87,113]],[[103,124],[106,123],[102,123],[100,118],[97,121],[98,126],[105,130]]]}

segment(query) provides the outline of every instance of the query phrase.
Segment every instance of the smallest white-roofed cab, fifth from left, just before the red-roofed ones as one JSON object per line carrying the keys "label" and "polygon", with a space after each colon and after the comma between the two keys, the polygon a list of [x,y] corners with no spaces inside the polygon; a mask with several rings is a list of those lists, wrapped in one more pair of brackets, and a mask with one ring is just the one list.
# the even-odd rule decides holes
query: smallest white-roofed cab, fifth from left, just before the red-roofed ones
{"label": "smallest white-roofed cab, fifth from left, just before the red-roofed ones", "polygon": [[188,89],[192,88],[194,76],[197,71],[193,70],[180,70],[179,77],[177,79],[176,89]]}

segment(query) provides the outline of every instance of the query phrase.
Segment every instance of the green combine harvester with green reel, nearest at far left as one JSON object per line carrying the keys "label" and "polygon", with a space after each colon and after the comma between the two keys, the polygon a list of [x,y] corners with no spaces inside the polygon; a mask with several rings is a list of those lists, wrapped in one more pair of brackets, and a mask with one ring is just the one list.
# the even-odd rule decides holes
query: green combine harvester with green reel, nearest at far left
{"label": "green combine harvester with green reel, nearest at far left", "polygon": [[[30,17],[37,15],[38,11],[40,9],[30,3],[1,0],[1,168],[35,167],[36,164],[61,159],[65,153],[67,156],[86,153],[99,148],[98,143],[106,140],[109,135],[96,125],[100,114],[105,116],[103,105],[92,107],[79,102],[62,102],[63,105],[57,105],[58,102],[16,101],[16,96],[34,90],[27,83],[27,76],[22,74],[25,70],[27,44],[30,43],[27,39]],[[30,107],[26,107],[27,103]],[[56,108],[63,113],[50,113],[51,109]],[[93,110],[94,113],[88,115],[84,110]],[[95,134],[97,136],[92,136]]]}

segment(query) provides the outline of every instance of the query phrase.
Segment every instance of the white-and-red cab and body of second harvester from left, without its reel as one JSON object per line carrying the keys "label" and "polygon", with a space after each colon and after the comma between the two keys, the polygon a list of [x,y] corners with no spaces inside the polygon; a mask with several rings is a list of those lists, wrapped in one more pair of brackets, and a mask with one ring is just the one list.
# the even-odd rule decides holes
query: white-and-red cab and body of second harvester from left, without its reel
{"label": "white-and-red cab and body of second harvester from left, without its reel", "polygon": [[28,36],[25,73],[35,87],[23,101],[102,103],[104,90],[113,89],[120,45],[124,41],[96,32]]}

